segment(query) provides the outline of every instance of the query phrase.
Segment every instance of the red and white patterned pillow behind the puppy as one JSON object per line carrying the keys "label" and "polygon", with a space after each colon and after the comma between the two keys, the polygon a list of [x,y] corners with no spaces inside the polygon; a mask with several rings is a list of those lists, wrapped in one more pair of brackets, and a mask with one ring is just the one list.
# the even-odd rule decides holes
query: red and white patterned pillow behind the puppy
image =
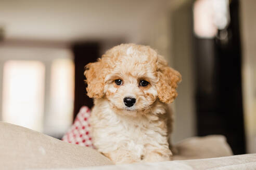
{"label": "red and white patterned pillow behind the puppy", "polygon": [[91,127],[88,122],[90,116],[91,110],[86,106],[82,106],[73,125],[62,137],[62,140],[71,144],[93,147]]}

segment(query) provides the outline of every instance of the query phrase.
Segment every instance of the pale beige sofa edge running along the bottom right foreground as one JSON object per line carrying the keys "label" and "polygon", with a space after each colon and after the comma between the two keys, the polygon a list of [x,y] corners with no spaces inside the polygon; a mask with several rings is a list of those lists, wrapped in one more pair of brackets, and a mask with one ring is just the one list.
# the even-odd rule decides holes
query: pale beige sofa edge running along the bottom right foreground
{"label": "pale beige sofa edge running along the bottom right foreground", "polygon": [[[167,161],[155,163],[135,163],[123,165],[109,165],[97,167],[84,167],[72,170],[255,170],[256,153],[235,155],[199,160]],[[57,169],[56,169],[57,170]],[[62,170],[62,169],[58,169]]]}

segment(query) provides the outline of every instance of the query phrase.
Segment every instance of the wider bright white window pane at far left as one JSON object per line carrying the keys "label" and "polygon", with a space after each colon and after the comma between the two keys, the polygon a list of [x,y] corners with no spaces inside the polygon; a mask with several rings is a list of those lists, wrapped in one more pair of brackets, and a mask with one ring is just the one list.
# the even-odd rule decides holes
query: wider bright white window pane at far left
{"label": "wider bright white window pane at far left", "polygon": [[3,74],[3,121],[42,132],[44,64],[39,61],[7,61]]}

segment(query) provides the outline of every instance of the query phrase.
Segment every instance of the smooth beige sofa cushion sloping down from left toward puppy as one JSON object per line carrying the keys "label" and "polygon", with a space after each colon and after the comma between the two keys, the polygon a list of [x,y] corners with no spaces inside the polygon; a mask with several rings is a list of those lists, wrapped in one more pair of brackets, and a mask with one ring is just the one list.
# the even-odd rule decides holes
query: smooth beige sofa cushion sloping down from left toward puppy
{"label": "smooth beige sofa cushion sloping down from left toward puppy", "polygon": [[88,147],[0,122],[0,169],[71,168],[113,164]]}

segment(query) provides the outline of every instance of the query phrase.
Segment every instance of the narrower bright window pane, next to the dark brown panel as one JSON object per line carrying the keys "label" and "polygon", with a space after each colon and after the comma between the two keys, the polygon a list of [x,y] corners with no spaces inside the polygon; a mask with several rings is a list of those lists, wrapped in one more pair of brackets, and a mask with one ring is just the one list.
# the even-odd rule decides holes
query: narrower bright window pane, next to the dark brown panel
{"label": "narrower bright window pane, next to the dark brown panel", "polygon": [[[73,120],[74,63],[72,59],[56,59],[50,78],[50,108],[47,134],[59,135],[67,131]],[[51,133],[55,134],[51,134]]]}

